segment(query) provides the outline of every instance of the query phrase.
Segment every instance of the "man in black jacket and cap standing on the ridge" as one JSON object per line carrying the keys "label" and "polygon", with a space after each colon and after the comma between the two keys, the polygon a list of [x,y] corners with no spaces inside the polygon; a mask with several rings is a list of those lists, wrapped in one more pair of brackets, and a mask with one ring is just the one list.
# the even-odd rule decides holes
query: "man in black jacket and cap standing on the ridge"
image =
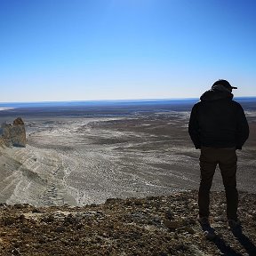
{"label": "man in black jacket and cap standing on the ridge", "polygon": [[209,224],[209,204],[212,178],[219,164],[227,199],[230,228],[240,226],[237,219],[238,193],[236,189],[236,149],[242,149],[249,136],[244,109],[232,100],[232,89],[227,80],[218,80],[204,92],[192,108],[188,132],[196,149],[201,149],[201,181],[198,192],[199,216],[202,225]]}

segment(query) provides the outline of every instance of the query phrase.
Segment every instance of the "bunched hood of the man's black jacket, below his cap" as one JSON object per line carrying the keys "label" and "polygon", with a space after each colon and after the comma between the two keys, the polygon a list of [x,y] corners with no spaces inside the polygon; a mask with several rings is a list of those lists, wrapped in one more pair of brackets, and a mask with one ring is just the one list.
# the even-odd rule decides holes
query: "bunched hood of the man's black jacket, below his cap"
{"label": "bunched hood of the man's black jacket, below his cap", "polygon": [[234,95],[230,91],[225,89],[223,89],[221,85],[213,86],[211,90],[206,91],[202,94],[202,96],[200,97],[200,100],[202,101],[224,100],[224,99],[232,100]]}

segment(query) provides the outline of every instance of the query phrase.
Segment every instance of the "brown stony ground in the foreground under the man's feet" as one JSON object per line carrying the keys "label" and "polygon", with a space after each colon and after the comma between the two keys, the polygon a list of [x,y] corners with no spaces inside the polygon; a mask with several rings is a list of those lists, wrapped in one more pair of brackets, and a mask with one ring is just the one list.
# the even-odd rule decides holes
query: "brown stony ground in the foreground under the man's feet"
{"label": "brown stony ground in the foreground under the man's feet", "polygon": [[225,196],[212,192],[213,240],[196,221],[196,195],[193,190],[72,208],[1,204],[0,254],[256,255],[256,195],[240,192],[243,232],[232,232]]}

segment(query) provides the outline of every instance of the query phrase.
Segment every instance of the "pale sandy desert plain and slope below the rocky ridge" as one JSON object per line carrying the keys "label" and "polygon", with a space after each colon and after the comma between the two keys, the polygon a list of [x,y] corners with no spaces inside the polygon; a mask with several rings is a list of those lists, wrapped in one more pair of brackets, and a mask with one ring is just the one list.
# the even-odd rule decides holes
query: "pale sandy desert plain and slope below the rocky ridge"
{"label": "pale sandy desert plain and slope below the rocky ridge", "polygon": [[[251,114],[250,139],[237,152],[237,186],[255,193],[256,117]],[[109,197],[198,188],[200,152],[188,137],[188,117],[189,112],[30,117],[27,148],[0,149],[0,202],[100,204]],[[218,171],[212,189],[223,189]]]}

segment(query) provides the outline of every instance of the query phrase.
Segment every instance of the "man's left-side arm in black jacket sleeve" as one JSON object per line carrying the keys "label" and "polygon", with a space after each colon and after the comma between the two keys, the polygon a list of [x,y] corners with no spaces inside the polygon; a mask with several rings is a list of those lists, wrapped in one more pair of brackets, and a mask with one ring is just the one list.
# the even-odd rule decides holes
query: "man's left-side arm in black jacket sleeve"
{"label": "man's left-side arm in black jacket sleeve", "polygon": [[192,108],[189,124],[188,124],[188,133],[190,135],[191,140],[193,141],[195,148],[201,148],[201,141],[200,141],[200,130],[199,124],[197,120],[197,108],[196,105]]}

